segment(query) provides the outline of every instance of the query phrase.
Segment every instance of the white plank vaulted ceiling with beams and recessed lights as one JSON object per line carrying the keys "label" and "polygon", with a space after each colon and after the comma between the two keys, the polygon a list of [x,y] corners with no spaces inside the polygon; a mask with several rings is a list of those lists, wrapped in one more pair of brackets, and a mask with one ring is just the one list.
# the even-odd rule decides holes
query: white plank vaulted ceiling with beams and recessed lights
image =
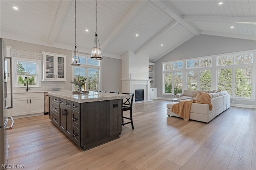
{"label": "white plank vaulted ceiling with beams and recessed lights", "polygon": [[[74,0],[1,0],[0,14],[2,38],[74,50]],[[256,1],[98,0],[97,32],[103,56],[154,62],[200,34],[256,41]],[[79,52],[91,53],[94,35],[95,1],[76,0]]]}

